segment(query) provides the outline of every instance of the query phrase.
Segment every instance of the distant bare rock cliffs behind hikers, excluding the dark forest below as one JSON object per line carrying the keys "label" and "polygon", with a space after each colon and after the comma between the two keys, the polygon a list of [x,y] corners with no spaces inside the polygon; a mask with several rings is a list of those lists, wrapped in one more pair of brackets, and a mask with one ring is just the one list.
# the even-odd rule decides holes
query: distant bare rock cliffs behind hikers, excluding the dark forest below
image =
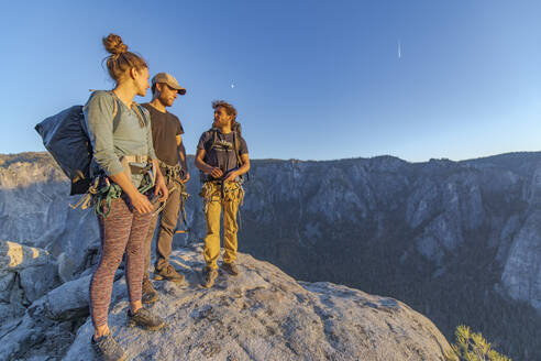
{"label": "distant bare rock cliffs behind hikers, excluding the dark forest below", "polygon": [[[312,281],[320,274],[312,265],[331,266],[331,276],[321,278],[339,281],[338,274],[354,264],[355,249],[369,252],[371,243],[393,243],[402,264],[419,254],[439,267],[457,250],[483,243],[497,250],[503,289],[539,308],[539,258],[532,247],[541,238],[536,228],[540,161],[538,153],[459,163],[412,164],[391,156],[254,161],[244,185],[240,249]],[[191,163],[190,231],[175,237],[177,245],[205,237],[198,172]],[[92,263],[99,244],[96,216],[71,209],[68,205],[78,197],[67,196],[68,188],[46,153],[0,156],[2,238],[47,249],[58,259],[64,282]],[[272,242],[287,242],[302,258]]]}

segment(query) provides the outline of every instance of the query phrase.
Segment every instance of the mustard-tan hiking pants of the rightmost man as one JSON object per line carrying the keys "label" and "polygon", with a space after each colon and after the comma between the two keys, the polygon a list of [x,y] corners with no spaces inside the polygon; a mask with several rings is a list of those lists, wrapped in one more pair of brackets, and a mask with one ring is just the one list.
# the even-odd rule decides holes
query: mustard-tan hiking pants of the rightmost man
{"label": "mustard-tan hiking pants of the rightmost man", "polygon": [[220,215],[223,209],[223,262],[232,263],[236,260],[236,212],[242,203],[244,189],[236,182],[228,182],[223,189],[220,183],[207,182],[201,190],[207,218],[207,237],[205,238],[205,262],[208,269],[218,269],[220,255]]}

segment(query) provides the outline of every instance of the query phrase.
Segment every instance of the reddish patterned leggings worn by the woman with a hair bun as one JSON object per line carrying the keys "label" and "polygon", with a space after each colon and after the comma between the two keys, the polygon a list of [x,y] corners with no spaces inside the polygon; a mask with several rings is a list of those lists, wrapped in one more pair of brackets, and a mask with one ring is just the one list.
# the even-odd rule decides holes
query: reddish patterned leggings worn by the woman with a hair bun
{"label": "reddish patterned leggings worn by the woman with a hair bun", "polygon": [[95,327],[107,325],[114,272],[126,253],[125,280],[130,302],[141,299],[144,272],[144,240],[152,214],[134,211],[123,197],[111,201],[107,218],[98,216],[101,255],[90,281],[90,315]]}

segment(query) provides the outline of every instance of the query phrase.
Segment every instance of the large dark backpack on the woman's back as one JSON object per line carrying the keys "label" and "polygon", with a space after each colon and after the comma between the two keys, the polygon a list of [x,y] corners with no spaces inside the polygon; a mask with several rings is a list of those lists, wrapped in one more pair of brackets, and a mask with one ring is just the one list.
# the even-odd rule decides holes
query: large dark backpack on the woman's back
{"label": "large dark backpack on the woman's back", "polygon": [[[113,98],[114,133],[120,123],[121,112],[118,103],[120,100]],[[143,113],[141,106],[136,106],[139,112]],[[84,106],[73,106],[35,125],[36,132],[43,139],[43,145],[71,180],[70,196],[87,193],[93,178],[93,151],[82,111]]]}

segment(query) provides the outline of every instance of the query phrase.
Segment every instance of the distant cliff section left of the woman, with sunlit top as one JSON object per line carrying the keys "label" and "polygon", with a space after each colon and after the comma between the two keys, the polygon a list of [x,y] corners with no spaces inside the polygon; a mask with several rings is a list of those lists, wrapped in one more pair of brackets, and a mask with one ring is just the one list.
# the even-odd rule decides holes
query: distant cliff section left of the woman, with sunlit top
{"label": "distant cliff section left of the woman, with sunlit top", "polygon": [[[46,153],[0,156],[1,238],[66,253],[76,266],[95,252],[98,223],[91,211],[71,209],[69,182]],[[66,277],[66,272],[64,276]]]}

